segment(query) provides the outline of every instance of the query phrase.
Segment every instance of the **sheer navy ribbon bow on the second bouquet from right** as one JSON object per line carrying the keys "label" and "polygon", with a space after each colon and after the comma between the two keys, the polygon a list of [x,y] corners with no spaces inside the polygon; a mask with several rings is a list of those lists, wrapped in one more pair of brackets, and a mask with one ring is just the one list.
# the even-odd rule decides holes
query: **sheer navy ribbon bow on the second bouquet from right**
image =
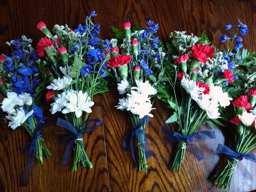
{"label": "sheer navy ribbon bow on the second bouquet from right", "polygon": [[166,125],[163,126],[162,132],[168,135],[166,137],[166,140],[168,141],[168,143],[177,143],[180,141],[184,141],[187,144],[187,146],[191,149],[191,151],[194,153],[198,161],[204,160],[205,157],[202,151],[198,148],[198,146],[195,145],[193,140],[210,140],[210,139],[216,138],[215,131],[201,131],[201,132],[193,133],[187,136],[187,135],[172,131]]}

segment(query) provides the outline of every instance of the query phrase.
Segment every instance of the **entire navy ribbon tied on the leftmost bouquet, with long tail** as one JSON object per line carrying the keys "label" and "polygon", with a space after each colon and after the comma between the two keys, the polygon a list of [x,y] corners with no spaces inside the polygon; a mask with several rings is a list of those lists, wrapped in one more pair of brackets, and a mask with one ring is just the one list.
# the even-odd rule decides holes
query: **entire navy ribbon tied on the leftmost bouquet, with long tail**
{"label": "entire navy ribbon tied on the leftmost bouquet, with long tail", "polygon": [[43,140],[41,133],[44,127],[45,127],[44,123],[38,123],[34,130],[32,141],[30,143],[27,143],[26,145],[23,145],[23,149],[25,153],[29,153],[29,155],[26,161],[20,186],[28,186],[29,184],[29,177],[31,175],[31,172],[35,163],[36,154],[38,151],[38,140]]}

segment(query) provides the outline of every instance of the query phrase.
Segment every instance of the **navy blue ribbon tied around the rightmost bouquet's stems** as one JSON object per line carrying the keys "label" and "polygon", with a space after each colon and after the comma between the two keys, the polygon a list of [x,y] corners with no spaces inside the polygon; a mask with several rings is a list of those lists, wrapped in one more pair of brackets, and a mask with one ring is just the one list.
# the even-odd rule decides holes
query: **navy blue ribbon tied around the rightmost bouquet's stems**
{"label": "navy blue ribbon tied around the rightmost bouquet's stems", "polygon": [[253,161],[254,163],[256,163],[256,158],[255,158],[254,154],[252,154],[250,152],[249,153],[239,153],[237,151],[233,151],[229,147],[222,145],[220,143],[218,144],[216,151],[218,151],[222,154],[226,154],[228,159],[232,159],[232,160],[239,159],[240,161],[243,159],[247,159],[247,160],[250,160],[250,161]]}

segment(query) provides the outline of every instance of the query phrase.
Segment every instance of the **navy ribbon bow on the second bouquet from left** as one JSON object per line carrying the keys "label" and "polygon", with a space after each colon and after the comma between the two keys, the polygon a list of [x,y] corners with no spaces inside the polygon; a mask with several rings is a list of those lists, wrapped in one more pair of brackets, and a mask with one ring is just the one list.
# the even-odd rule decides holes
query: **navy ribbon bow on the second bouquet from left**
{"label": "navy ribbon bow on the second bouquet from left", "polygon": [[[88,126],[92,122],[95,122],[96,125]],[[66,165],[68,160],[70,159],[70,155],[73,150],[76,139],[82,139],[84,133],[91,133],[95,131],[97,128],[99,128],[101,124],[102,122],[99,119],[87,119],[81,124],[81,126],[78,129],[76,129],[76,127],[72,125],[70,122],[67,122],[66,120],[58,118],[57,125],[73,133],[72,135],[64,135],[62,137],[62,143],[69,142],[69,144],[67,145],[66,151],[64,153],[62,163]]]}

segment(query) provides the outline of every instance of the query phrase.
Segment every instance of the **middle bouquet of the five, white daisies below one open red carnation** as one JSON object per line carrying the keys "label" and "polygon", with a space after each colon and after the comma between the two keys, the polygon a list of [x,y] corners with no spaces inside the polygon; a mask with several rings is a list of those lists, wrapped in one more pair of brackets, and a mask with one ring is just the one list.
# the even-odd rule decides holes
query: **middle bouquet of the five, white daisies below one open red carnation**
{"label": "middle bouquet of the five, white daisies below one open red carnation", "polygon": [[[117,39],[111,40],[111,58],[107,63],[116,79],[121,97],[115,107],[128,111],[134,126],[134,131],[125,136],[123,147],[126,151],[132,151],[134,162],[137,163],[138,160],[139,169],[145,170],[146,174],[146,160],[151,157],[151,150],[145,137],[145,126],[149,122],[148,116],[153,116],[150,111],[155,108],[152,108],[151,98],[157,93],[149,81],[156,82],[153,72],[164,57],[163,46],[158,37],[153,35],[157,32],[158,24],[152,21],[147,21],[147,24],[145,29],[134,26],[131,32],[131,24],[123,23],[124,34],[112,26]],[[135,138],[137,158],[133,146]]]}

